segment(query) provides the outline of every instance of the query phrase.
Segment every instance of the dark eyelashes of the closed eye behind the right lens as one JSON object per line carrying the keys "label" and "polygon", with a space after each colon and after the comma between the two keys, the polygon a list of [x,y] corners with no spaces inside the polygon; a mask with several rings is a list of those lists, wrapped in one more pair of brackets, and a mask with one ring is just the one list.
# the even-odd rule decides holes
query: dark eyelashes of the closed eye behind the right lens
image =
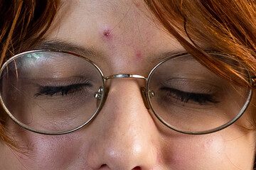
{"label": "dark eyelashes of the closed eye behind the right lens", "polygon": [[219,103],[216,101],[211,94],[199,94],[199,93],[188,93],[185,91],[179,91],[177,89],[171,89],[167,87],[162,87],[162,91],[167,91],[166,96],[171,96],[178,99],[181,102],[188,103],[188,101],[194,101],[200,105],[210,103]]}

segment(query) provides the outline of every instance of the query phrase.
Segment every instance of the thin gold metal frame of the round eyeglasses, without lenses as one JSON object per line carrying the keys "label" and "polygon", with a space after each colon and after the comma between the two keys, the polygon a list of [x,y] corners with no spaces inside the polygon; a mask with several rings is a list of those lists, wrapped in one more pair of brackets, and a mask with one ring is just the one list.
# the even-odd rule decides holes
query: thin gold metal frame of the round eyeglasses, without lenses
{"label": "thin gold metal frame of the round eyeglasses, without lenses", "polygon": [[[154,66],[153,69],[151,69],[151,72],[149,72],[149,75],[148,77],[144,77],[142,75],[138,75],[138,74],[112,74],[110,76],[107,76],[105,77],[104,74],[102,73],[101,69],[99,67],[97,67],[97,65],[92,62],[91,60],[85,58],[85,57],[82,57],[81,55],[77,55],[73,52],[68,52],[68,51],[63,51],[63,50],[30,50],[30,51],[27,51],[27,52],[22,52],[18,55],[14,55],[14,57],[11,57],[9,60],[7,60],[1,67],[1,70],[0,70],[0,75],[3,73],[4,69],[6,68],[6,66],[16,60],[18,57],[21,57],[23,55],[28,55],[28,54],[32,54],[32,53],[35,53],[35,52],[60,52],[60,53],[65,53],[65,54],[69,54],[69,55],[73,55],[73,56],[76,56],[76,57],[80,57],[82,58],[82,60],[86,60],[87,62],[90,62],[90,64],[92,64],[96,69],[97,71],[100,73],[101,77],[102,77],[102,87],[100,87],[99,91],[97,91],[95,93],[95,98],[99,101],[97,104],[98,104],[98,107],[97,107],[97,110],[95,111],[95,113],[92,115],[92,117],[87,120],[85,123],[83,123],[82,125],[79,125],[77,128],[74,128],[72,130],[65,130],[65,131],[62,131],[62,132],[46,132],[46,131],[43,131],[43,130],[35,130],[31,127],[29,127],[28,125],[25,125],[23,123],[21,123],[21,121],[17,120],[14,115],[11,114],[11,112],[8,110],[8,108],[6,108],[5,104],[4,104],[4,101],[2,99],[2,96],[1,96],[1,91],[0,91],[0,103],[1,103],[1,106],[4,108],[4,110],[6,111],[6,113],[9,115],[9,117],[14,120],[15,123],[17,123],[18,125],[20,125],[22,128],[25,128],[26,130],[30,130],[32,132],[36,132],[36,133],[40,133],[40,134],[43,134],[43,135],[63,135],[63,134],[67,134],[67,133],[70,133],[70,132],[74,132],[75,130],[79,130],[80,128],[84,127],[85,125],[87,125],[88,123],[90,123],[90,121],[95,118],[95,116],[97,115],[97,113],[100,112],[102,106],[104,105],[105,103],[105,100],[107,98],[107,87],[106,87],[106,83],[107,83],[107,80],[109,79],[144,79],[145,81],[145,86],[142,87],[141,89],[141,93],[142,93],[142,98],[143,98],[143,101],[144,101],[144,104],[145,104],[145,107],[148,109],[148,111],[150,113],[153,113],[156,118],[161,122],[163,123],[164,125],[166,125],[168,128],[172,129],[172,130],[175,130],[176,132],[181,132],[181,133],[184,133],[184,134],[190,134],[190,135],[203,135],[203,134],[208,134],[208,133],[211,133],[211,132],[217,132],[219,130],[222,130],[224,128],[227,128],[229,125],[232,125],[233,123],[235,123],[236,120],[238,120],[238,118],[240,118],[240,116],[245,112],[247,106],[249,105],[250,103],[250,100],[252,98],[252,89],[250,89],[250,92],[249,92],[249,95],[247,97],[247,100],[245,101],[245,105],[242,107],[240,113],[238,113],[238,115],[233,118],[233,120],[230,120],[230,122],[228,123],[225,123],[224,125],[221,125],[220,127],[218,128],[214,128],[214,129],[211,129],[211,130],[204,130],[204,131],[200,131],[200,132],[190,132],[190,131],[184,131],[184,130],[178,130],[174,127],[172,127],[171,125],[169,125],[169,123],[166,123],[166,121],[164,119],[162,119],[155,111],[154,111],[154,108],[152,107],[152,103],[151,103],[151,100],[150,98],[151,97],[154,97],[154,92],[151,91],[149,89],[149,81],[150,81],[150,78],[151,78],[151,75],[152,73],[154,72],[154,70],[159,67],[159,65],[163,64],[164,62],[168,61],[168,60],[171,60],[175,57],[180,57],[180,56],[183,56],[183,55],[189,55],[188,52],[183,52],[183,53],[180,53],[180,54],[176,54],[176,55],[172,55],[168,58],[166,58],[165,60],[159,62],[159,64],[156,64],[156,66]],[[221,54],[220,52],[212,52],[212,51],[207,51],[209,55],[223,55]],[[226,55],[225,55],[226,56]],[[246,69],[246,67],[245,67]],[[250,75],[250,72],[248,70],[246,70],[248,76],[249,76],[249,83],[252,84],[253,87],[256,86],[256,77],[251,77]]]}

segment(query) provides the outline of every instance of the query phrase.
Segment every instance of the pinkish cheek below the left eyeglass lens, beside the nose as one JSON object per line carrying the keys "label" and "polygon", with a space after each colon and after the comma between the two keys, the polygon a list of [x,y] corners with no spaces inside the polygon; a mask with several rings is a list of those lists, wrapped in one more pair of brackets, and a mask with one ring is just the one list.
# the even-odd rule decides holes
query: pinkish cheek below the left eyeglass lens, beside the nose
{"label": "pinkish cheek below the left eyeglass lens, beside the nose", "polygon": [[78,164],[79,160],[85,160],[85,153],[90,148],[90,143],[82,140],[77,132],[58,136],[26,133],[27,141],[21,142],[22,146],[27,146],[28,151],[18,156],[21,157],[22,164],[31,169],[70,168],[73,164]]}

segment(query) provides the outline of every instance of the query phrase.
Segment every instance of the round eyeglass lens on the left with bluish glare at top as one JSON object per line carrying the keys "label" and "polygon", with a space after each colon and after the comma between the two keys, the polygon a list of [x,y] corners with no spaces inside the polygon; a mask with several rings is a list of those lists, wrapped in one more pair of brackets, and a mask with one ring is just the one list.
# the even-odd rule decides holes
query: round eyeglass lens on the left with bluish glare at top
{"label": "round eyeglass lens on the left with bluish glare at top", "polygon": [[[100,108],[102,89],[102,73],[95,64],[65,52],[25,52],[1,69],[6,112],[24,128],[44,134],[61,134],[88,123]],[[13,127],[7,121],[7,128]]]}

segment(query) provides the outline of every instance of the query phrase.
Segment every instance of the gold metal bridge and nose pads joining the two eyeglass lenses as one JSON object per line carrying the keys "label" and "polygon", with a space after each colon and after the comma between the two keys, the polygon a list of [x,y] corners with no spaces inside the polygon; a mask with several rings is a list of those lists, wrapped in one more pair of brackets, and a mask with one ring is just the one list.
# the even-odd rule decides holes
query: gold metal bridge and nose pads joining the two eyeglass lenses
{"label": "gold metal bridge and nose pads joining the two eyeglass lenses", "polygon": [[[116,79],[116,78],[144,79],[144,81],[147,81],[146,77],[138,75],[138,74],[113,74],[108,77],[105,77],[105,81],[107,81],[108,79]],[[145,83],[145,85],[146,85],[146,83]],[[100,89],[95,93],[95,98],[97,98],[98,101],[101,100],[102,93],[103,93],[103,89],[102,89],[102,86],[100,86]],[[144,105],[145,105],[146,109],[149,109],[150,105],[149,105],[149,100],[146,97],[146,88],[145,87],[141,88],[141,94],[142,94],[142,99],[144,101]],[[153,97],[154,91],[149,91],[149,95],[150,95],[150,97]],[[106,99],[106,97],[103,100],[105,101],[105,99]]]}

